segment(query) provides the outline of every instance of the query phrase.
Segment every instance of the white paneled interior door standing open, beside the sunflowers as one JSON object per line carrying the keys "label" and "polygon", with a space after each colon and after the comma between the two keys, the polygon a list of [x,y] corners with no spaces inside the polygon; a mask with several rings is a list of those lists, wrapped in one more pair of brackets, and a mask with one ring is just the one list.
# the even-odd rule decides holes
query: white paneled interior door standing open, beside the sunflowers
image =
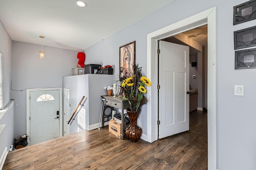
{"label": "white paneled interior door standing open, beside the sunflowers", "polygon": [[189,130],[189,47],[159,41],[159,139]]}

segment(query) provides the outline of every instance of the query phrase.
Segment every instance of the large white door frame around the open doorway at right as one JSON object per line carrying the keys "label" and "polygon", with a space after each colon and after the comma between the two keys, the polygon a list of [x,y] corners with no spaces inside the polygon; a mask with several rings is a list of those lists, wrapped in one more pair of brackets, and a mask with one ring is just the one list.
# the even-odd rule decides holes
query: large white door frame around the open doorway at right
{"label": "large white door frame around the open doorway at right", "polygon": [[154,82],[147,89],[147,141],[158,140],[158,40],[203,25],[208,25],[208,169],[216,170],[216,7],[147,35],[147,77]]}

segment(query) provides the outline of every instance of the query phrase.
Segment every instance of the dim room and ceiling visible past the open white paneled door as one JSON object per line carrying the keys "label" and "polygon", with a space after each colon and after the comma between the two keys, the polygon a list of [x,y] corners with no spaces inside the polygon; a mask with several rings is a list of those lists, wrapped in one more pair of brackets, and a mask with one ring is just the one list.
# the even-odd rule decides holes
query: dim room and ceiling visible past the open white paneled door
{"label": "dim room and ceiling visible past the open white paneled door", "polygon": [[189,46],[189,112],[207,111],[208,25],[164,38],[162,41]]}

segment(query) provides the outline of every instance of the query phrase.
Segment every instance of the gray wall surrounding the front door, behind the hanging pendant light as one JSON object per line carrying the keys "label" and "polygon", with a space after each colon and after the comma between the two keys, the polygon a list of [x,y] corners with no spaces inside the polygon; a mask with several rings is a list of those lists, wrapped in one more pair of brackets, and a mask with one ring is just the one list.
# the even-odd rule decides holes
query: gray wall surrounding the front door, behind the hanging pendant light
{"label": "gray wall surrounding the front door, behind the hanging pendant light", "polygon": [[71,75],[71,69],[76,67],[78,62],[78,51],[43,46],[45,58],[39,59],[40,49],[41,45],[12,42],[11,97],[15,100],[15,137],[26,133],[25,89],[62,88],[62,77]]}

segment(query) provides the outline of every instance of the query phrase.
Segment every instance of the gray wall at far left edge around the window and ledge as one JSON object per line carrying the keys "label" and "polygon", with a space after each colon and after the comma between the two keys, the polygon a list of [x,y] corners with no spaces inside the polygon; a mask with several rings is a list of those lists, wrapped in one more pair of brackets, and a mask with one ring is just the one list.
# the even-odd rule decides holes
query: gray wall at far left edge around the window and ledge
{"label": "gray wall at far left edge around the window and ledge", "polygon": [[[4,107],[8,105],[10,101],[10,79],[11,79],[11,56],[12,56],[12,40],[7,33],[4,25],[0,21],[0,51],[3,53],[3,104]],[[9,103],[9,104],[10,104]],[[6,108],[6,107],[5,107]],[[14,121],[13,121],[13,104],[7,109],[6,114],[0,119],[0,125],[6,125],[2,133],[0,134],[0,156],[2,156],[5,147],[9,150],[10,144],[14,140]]]}

